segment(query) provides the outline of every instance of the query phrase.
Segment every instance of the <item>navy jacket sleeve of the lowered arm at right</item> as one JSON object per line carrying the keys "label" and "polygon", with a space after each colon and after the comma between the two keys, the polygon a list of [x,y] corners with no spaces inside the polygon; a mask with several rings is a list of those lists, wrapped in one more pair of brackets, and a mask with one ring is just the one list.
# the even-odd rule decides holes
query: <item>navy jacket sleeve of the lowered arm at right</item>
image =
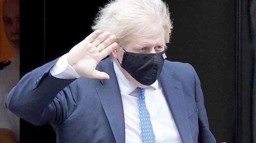
{"label": "navy jacket sleeve of the lowered arm at right", "polygon": [[[190,64],[189,64],[190,65]],[[208,117],[206,109],[204,106],[204,96],[201,89],[201,82],[195,71],[195,69],[190,65],[194,78],[195,78],[195,101],[198,110],[198,121],[199,121],[199,143],[216,143],[216,139],[210,131]]]}

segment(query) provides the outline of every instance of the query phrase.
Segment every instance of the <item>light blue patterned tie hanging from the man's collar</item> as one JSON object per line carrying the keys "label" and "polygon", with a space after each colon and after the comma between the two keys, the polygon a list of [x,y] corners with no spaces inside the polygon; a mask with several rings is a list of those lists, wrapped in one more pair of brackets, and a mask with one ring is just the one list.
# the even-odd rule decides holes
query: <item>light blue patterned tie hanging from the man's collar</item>
{"label": "light blue patterned tie hanging from the man's collar", "polygon": [[144,88],[137,87],[139,91],[139,114],[142,143],[154,143],[154,134],[145,104]]}

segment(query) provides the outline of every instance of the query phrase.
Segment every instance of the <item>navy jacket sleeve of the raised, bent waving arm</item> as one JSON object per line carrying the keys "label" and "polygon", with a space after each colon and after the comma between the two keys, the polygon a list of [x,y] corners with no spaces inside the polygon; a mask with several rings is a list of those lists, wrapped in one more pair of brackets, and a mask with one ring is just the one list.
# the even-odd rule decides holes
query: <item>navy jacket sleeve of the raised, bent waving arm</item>
{"label": "navy jacket sleeve of the raised, bent waving arm", "polygon": [[17,116],[35,124],[57,125],[76,107],[75,79],[60,79],[50,74],[58,59],[24,75],[7,97],[7,107]]}

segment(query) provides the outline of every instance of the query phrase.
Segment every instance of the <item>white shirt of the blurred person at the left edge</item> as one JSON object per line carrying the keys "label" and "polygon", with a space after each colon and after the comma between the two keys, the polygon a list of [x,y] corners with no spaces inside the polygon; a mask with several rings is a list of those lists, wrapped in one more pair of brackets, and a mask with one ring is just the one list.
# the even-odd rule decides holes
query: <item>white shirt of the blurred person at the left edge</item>
{"label": "white shirt of the blurred person at the left edge", "polygon": [[11,64],[0,70],[0,128],[11,130],[20,140],[20,118],[6,108],[6,98],[11,89],[20,80],[20,55],[10,59]]}

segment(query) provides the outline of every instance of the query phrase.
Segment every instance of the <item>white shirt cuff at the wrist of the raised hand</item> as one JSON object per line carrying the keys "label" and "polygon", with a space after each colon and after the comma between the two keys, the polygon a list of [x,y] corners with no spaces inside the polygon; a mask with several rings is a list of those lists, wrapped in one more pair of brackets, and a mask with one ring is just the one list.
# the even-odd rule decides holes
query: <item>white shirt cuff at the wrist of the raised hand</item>
{"label": "white shirt cuff at the wrist of the raised hand", "polygon": [[74,79],[81,77],[68,63],[68,53],[59,58],[54,67],[50,70],[51,75],[61,79]]}

